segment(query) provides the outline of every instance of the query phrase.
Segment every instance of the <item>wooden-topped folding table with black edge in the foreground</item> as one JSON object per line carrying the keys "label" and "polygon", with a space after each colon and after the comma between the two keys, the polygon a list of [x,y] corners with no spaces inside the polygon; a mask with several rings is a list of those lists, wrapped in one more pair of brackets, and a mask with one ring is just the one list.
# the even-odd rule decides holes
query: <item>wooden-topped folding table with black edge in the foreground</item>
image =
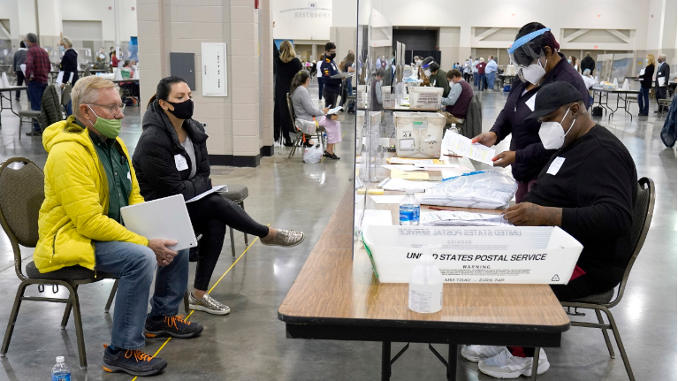
{"label": "wooden-topped folding table with black edge in the foreground", "polygon": [[[368,255],[354,241],[353,221],[351,186],[278,309],[287,338],[381,342],[382,380],[390,379],[392,362],[411,342],[428,343],[449,380],[456,379],[460,344],[537,347],[534,370],[539,347],[560,347],[570,321],[547,285],[446,284],[440,312],[411,311],[408,284],[382,284],[374,277]],[[393,342],[408,343],[394,358]],[[447,360],[430,344],[448,344]]]}

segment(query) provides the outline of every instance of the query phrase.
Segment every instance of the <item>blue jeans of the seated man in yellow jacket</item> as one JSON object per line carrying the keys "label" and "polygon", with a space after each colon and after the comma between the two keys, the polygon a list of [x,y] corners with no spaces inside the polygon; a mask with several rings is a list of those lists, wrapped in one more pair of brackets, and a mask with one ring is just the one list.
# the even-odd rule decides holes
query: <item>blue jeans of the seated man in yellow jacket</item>
{"label": "blue jeans of the seated man in yellow jacket", "polygon": [[[96,270],[119,278],[110,344],[139,349],[145,344],[143,327],[150,284],[157,267],[156,254],[148,247],[130,242],[94,243]],[[170,264],[157,269],[151,312],[162,316],[177,315],[187,284],[188,250],[181,250]]]}

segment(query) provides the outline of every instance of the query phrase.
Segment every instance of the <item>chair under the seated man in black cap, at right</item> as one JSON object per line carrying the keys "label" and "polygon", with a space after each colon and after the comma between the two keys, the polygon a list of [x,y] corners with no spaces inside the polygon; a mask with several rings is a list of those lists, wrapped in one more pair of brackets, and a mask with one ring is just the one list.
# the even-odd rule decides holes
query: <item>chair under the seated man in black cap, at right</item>
{"label": "chair under the seated man in black cap, at right", "polygon": [[[638,180],[638,195],[636,198],[636,205],[633,208],[633,225],[631,225],[631,243],[633,244],[632,247],[634,249],[630,259],[628,260],[626,271],[624,271],[624,277],[621,278],[620,285],[606,293],[598,293],[585,298],[576,299],[574,301],[562,301],[560,303],[563,307],[568,307],[568,315],[571,316],[585,316],[585,314],[577,312],[577,309],[593,309],[596,311],[598,324],[573,321],[572,326],[598,328],[603,331],[603,337],[605,338],[607,350],[610,353],[610,357],[614,358],[614,349],[612,347],[612,343],[610,342],[610,337],[607,334],[607,330],[612,330],[614,340],[617,342],[617,347],[619,347],[619,352],[621,353],[621,360],[624,362],[624,367],[628,373],[628,379],[631,381],[635,381],[636,377],[633,376],[631,364],[628,362],[626,350],[624,349],[624,345],[621,343],[621,336],[619,334],[619,330],[617,329],[617,324],[614,322],[614,317],[612,316],[610,309],[619,304],[621,297],[624,296],[624,289],[626,289],[628,275],[631,272],[633,264],[636,263],[636,258],[638,257],[641,248],[643,248],[645,237],[647,237],[647,232],[650,229],[652,213],[654,210],[654,199],[654,181],[647,178]],[[616,297],[614,297],[615,290],[617,291]],[[574,313],[569,312],[569,310],[572,308],[575,309]],[[609,324],[605,324],[600,311],[605,312],[607,319],[610,321]]]}

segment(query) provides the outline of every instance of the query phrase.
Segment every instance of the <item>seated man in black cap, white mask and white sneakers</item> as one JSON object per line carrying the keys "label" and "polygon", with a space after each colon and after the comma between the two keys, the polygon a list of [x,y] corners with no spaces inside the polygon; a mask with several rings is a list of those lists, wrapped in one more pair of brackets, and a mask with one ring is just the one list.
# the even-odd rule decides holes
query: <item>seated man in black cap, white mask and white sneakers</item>
{"label": "seated man in black cap, white mask and white sneakers", "polygon": [[[619,285],[631,255],[636,164],[613,133],[591,120],[568,82],[541,88],[528,118],[541,121],[545,149],[558,151],[504,218],[517,226],[560,226],[583,245],[568,285],[551,286],[559,301],[605,293]],[[549,368],[543,351],[537,374]],[[532,374],[534,348],[467,346],[461,354],[492,377]]]}

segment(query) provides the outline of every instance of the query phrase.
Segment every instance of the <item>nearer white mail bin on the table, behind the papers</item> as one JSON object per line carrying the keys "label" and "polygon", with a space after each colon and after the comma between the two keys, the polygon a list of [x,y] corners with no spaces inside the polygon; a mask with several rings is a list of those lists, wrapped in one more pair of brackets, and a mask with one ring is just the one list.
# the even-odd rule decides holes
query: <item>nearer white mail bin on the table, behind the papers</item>
{"label": "nearer white mail bin on the table, behind the papers", "polygon": [[438,112],[393,112],[398,157],[440,157],[445,117]]}

